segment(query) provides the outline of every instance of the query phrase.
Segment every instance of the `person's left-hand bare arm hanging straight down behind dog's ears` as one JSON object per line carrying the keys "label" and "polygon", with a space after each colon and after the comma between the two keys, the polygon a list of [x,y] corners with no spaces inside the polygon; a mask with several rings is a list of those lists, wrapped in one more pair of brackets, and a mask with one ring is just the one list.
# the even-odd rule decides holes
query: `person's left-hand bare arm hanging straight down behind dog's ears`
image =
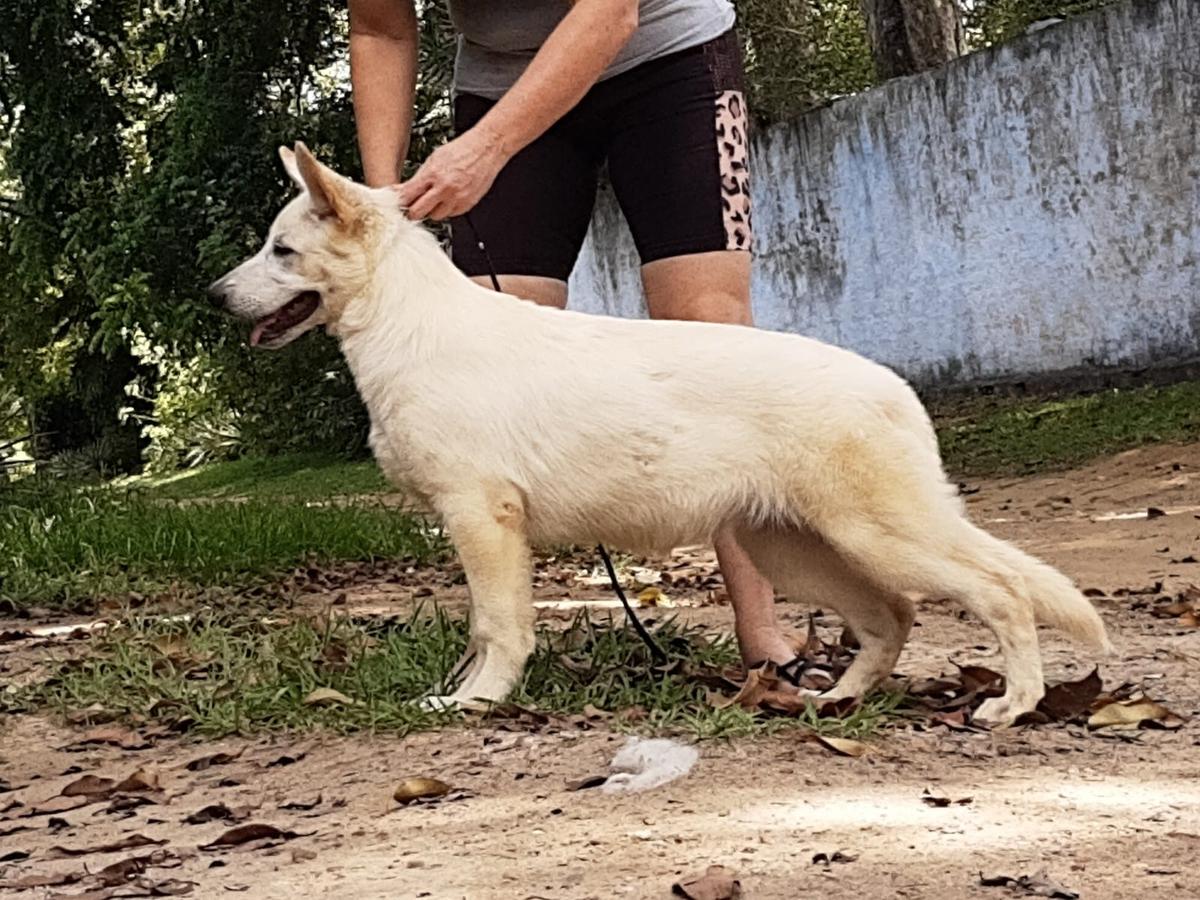
{"label": "person's left-hand bare arm hanging straight down behind dog's ears", "polygon": [[362,174],[394,185],[408,155],[416,96],[416,8],[413,0],[349,0],[350,84]]}

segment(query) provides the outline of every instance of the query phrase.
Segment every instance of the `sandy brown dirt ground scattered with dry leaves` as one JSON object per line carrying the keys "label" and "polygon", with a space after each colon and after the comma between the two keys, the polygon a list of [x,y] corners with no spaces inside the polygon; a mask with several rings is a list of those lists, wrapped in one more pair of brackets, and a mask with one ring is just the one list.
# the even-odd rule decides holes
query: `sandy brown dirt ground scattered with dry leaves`
{"label": "sandy brown dirt ground scattered with dry leaves", "polygon": [[[145,750],[68,751],[61,748],[78,732],[18,716],[0,732],[0,788],[4,781],[13,788],[0,793],[0,860],[18,854],[7,868],[0,862],[0,881],[84,865],[96,871],[149,856],[154,846],[52,858],[54,846],[140,834],[166,841],[156,859],[174,866],[150,868],[148,883],[192,882],[192,895],[200,898],[667,898],[676,881],[709,864],[733,870],[743,895],[762,900],[1033,895],[985,887],[980,874],[1016,878],[1043,871],[1082,898],[1200,898],[1200,630],[1147,608],[1200,583],[1200,444],[967,490],[976,488],[968,497],[976,521],[1061,566],[1081,587],[1103,592],[1096,602],[1118,647],[1117,658],[1100,664],[1105,685],[1141,684],[1188,719],[1182,728],[898,728],[876,736],[862,758],[786,734],[710,742],[700,745],[690,775],[644,793],[608,794],[566,788],[569,780],[606,772],[624,737],[602,728],[490,726],[406,739],[180,740]],[[1151,508],[1164,515],[1147,515]],[[424,593],[391,582],[343,590],[340,605],[347,610],[394,613]],[[556,599],[568,588],[544,578],[538,593],[544,616],[563,614]],[[574,602],[602,592],[570,594]],[[703,588],[691,598],[674,594],[680,604],[707,596]],[[784,610],[799,628],[805,612]],[[727,605],[702,602],[680,612],[714,628],[731,625]],[[832,616],[821,622],[836,634]],[[991,635],[956,611],[923,607],[919,625],[899,672],[932,676],[949,670],[950,660],[1000,667]],[[1063,641],[1050,632],[1043,638],[1048,680],[1091,671],[1092,661]],[[198,772],[186,768],[218,751],[241,755]],[[268,764],[283,756],[295,761]],[[19,817],[82,774],[120,779],[139,767],[161,780],[162,790],[146,794],[152,804],[55,812],[61,822],[53,828],[48,814]],[[392,790],[412,775],[440,779],[456,792],[398,808]],[[928,804],[926,791],[950,805]],[[12,802],[23,806],[6,810]],[[209,804],[234,812],[253,806],[246,822],[299,836],[275,846],[198,850],[232,827],[182,823]],[[281,809],[288,804],[311,808]],[[22,826],[26,830],[11,830]],[[836,852],[845,862],[814,862]],[[172,888],[167,882],[163,890]]]}

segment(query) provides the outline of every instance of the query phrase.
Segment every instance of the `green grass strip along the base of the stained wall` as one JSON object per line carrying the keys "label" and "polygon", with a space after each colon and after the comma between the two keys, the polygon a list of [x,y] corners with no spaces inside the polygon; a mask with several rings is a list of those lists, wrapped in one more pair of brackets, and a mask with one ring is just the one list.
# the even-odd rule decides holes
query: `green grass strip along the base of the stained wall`
{"label": "green grass strip along the base of the stained wall", "polygon": [[955,475],[1022,474],[1078,466],[1146,444],[1200,438],[1200,383],[1003,403],[936,416]]}

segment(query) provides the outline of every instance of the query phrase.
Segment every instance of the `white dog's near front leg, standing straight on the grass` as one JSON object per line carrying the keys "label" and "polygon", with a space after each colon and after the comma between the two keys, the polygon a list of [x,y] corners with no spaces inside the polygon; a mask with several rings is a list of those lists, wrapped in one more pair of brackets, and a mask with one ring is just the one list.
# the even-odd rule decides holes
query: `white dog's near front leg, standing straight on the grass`
{"label": "white dog's near front leg, standing straight on the grass", "polygon": [[458,689],[427,706],[500,701],[516,685],[533,652],[534,608],[524,498],[510,484],[440,497],[436,505],[467,572],[474,653]]}

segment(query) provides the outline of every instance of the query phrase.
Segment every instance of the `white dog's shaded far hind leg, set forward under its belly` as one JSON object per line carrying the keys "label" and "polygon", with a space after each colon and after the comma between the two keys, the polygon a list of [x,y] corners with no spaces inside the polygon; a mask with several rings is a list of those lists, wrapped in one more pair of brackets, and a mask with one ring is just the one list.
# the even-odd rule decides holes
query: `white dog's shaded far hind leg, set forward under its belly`
{"label": "white dog's shaded far hind leg, set forward under its belly", "polygon": [[854,661],[822,697],[863,697],[892,674],[912,628],[914,610],[907,598],[865,578],[811,532],[751,532],[742,541],[788,598],[832,606],[858,638]]}

